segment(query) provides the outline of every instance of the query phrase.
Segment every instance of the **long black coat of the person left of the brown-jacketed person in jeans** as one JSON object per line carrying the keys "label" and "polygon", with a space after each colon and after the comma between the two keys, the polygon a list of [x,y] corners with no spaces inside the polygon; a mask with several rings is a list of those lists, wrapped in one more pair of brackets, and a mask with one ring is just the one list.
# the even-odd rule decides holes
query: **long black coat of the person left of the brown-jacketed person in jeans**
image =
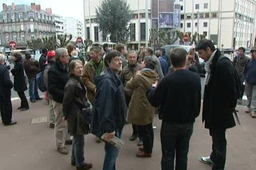
{"label": "long black coat of the person left of the brown-jacketed person in jeans", "polygon": [[28,88],[24,77],[24,65],[22,59],[15,61],[14,68],[11,70],[11,73],[14,76],[14,90],[19,92],[26,91]]}

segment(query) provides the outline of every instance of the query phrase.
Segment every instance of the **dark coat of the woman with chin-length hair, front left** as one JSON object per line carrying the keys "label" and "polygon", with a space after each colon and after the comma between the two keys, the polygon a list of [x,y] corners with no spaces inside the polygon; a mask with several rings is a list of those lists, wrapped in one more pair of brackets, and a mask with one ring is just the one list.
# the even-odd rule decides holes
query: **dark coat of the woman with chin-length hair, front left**
{"label": "dark coat of the woman with chin-length hair, front left", "polygon": [[81,78],[73,76],[68,80],[62,107],[64,116],[67,118],[70,135],[88,134],[89,125],[85,125],[82,116],[82,109],[88,108],[88,99]]}

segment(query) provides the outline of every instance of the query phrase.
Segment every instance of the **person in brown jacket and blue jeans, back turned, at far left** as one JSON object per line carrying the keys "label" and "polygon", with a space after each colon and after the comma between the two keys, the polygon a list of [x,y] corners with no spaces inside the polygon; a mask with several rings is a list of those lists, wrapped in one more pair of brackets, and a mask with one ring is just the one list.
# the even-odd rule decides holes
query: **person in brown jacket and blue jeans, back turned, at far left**
{"label": "person in brown jacket and blue jeans, back turned, at far left", "polygon": [[35,59],[31,59],[29,52],[25,53],[25,59],[23,61],[25,73],[29,79],[29,98],[30,101],[35,103],[35,100],[41,100],[38,95],[38,84],[36,81],[36,75],[40,71],[40,65]]}

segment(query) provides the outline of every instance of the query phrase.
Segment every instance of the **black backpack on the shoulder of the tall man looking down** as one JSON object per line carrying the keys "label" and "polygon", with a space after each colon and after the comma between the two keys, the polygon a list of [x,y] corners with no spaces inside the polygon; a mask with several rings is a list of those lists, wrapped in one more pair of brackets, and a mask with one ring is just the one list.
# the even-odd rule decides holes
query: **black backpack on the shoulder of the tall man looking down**
{"label": "black backpack on the shoulder of the tall man looking down", "polygon": [[[227,57],[224,57],[224,56],[220,56],[218,59],[217,59],[217,62],[216,62],[216,66],[215,66],[215,70],[219,64],[219,62],[221,61],[221,59],[228,59],[230,61],[229,58]],[[231,61],[230,61],[231,62]],[[233,65],[233,64],[232,64]],[[241,99],[242,96],[244,95],[244,84],[243,82],[241,82],[241,79],[239,77],[239,74],[235,68],[235,66],[233,65],[233,68],[235,70],[235,81],[236,81],[236,91],[237,91],[237,99]]]}

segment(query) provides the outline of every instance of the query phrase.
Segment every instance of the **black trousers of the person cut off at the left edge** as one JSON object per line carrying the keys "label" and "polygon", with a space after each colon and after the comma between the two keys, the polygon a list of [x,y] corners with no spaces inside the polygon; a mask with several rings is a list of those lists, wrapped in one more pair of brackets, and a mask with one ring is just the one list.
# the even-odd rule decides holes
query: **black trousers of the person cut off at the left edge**
{"label": "black trousers of the person cut off at the left edge", "polygon": [[12,122],[11,90],[5,91],[5,94],[0,95],[0,112],[3,124]]}

